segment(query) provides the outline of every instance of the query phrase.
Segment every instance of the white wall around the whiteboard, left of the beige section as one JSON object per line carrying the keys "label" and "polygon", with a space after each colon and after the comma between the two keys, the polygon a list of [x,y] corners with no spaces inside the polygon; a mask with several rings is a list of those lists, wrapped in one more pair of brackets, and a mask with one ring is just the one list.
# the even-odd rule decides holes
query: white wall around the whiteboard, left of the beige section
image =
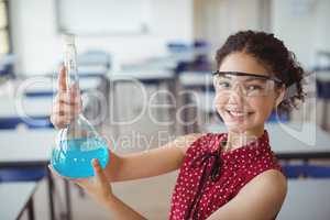
{"label": "white wall around the whiteboard, left of the beige section", "polygon": [[[13,51],[18,72],[53,72],[62,56],[61,35],[56,30],[56,0],[11,0]],[[116,61],[130,62],[166,53],[166,42],[193,40],[193,1],[151,1],[151,33],[146,35],[107,35],[78,37],[78,52],[102,48]],[[88,13],[88,12],[86,12]]]}

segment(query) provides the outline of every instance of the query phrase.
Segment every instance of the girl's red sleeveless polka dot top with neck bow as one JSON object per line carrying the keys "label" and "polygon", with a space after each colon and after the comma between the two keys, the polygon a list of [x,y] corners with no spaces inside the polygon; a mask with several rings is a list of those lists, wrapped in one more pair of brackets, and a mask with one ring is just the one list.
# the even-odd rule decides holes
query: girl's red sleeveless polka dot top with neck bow
{"label": "girl's red sleeveless polka dot top with neck bow", "polygon": [[256,175],[282,170],[266,131],[245,146],[222,152],[227,136],[209,133],[187,150],[172,197],[170,220],[207,219]]}

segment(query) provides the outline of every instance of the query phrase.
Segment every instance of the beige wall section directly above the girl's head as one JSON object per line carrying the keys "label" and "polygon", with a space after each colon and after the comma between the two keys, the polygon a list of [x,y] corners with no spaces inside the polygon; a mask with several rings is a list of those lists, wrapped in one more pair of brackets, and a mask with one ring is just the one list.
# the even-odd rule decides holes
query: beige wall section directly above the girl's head
{"label": "beige wall section directly above the girl's head", "polygon": [[211,44],[213,57],[226,38],[239,30],[258,30],[260,0],[195,0],[195,35],[206,38]]}

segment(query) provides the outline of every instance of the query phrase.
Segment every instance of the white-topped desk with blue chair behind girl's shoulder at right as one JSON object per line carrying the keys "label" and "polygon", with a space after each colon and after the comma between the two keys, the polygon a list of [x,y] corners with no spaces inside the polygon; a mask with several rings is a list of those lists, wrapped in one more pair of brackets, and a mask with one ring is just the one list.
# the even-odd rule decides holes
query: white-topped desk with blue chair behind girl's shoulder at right
{"label": "white-topped desk with blue chair behind girl's shoulder at right", "polygon": [[[288,178],[329,178],[330,166],[312,164],[310,160],[330,160],[330,135],[317,124],[305,122],[266,123],[270,144]],[[224,124],[213,124],[207,132],[227,132]],[[292,160],[295,164],[292,164]]]}

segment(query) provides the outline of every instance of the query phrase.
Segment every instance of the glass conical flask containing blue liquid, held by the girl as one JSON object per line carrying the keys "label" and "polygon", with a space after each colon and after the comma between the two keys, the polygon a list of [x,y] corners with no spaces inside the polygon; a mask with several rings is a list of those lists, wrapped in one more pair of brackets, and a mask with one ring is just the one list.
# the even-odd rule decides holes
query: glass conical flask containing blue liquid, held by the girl
{"label": "glass conical flask containing blue liquid, held by the girl", "polygon": [[[79,88],[75,36],[67,34],[64,36],[64,42],[67,89],[74,84]],[[98,158],[101,167],[106,167],[109,162],[107,141],[80,112],[66,128],[58,131],[51,164],[62,176],[86,178],[94,176],[92,158]]]}

